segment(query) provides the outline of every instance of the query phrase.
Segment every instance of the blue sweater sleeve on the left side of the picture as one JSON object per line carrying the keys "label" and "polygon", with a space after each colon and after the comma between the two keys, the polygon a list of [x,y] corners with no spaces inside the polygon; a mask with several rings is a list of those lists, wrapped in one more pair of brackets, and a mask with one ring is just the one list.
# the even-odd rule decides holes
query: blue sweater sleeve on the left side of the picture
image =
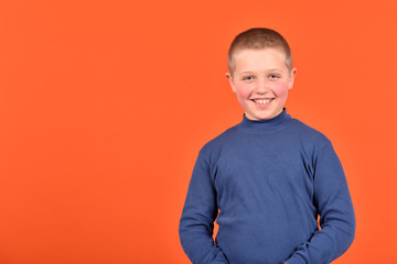
{"label": "blue sweater sleeve on the left side of the picture", "polygon": [[213,239],[217,213],[216,190],[208,162],[201,151],[193,169],[179,228],[182,248],[193,264],[228,263]]}

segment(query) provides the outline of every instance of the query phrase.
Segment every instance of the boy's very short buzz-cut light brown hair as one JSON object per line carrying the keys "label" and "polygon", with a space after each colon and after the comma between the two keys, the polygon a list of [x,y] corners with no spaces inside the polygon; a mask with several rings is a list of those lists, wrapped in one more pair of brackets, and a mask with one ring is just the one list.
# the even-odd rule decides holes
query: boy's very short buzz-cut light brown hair
{"label": "boy's very short buzz-cut light brown hair", "polygon": [[255,28],[239,33],[232,42],[227,53],[229,73],[235,70],[233,55],[242,50],[280,48],[286,54],[286,65],[292,69],[292,53],[282,35],[273,30]]}

